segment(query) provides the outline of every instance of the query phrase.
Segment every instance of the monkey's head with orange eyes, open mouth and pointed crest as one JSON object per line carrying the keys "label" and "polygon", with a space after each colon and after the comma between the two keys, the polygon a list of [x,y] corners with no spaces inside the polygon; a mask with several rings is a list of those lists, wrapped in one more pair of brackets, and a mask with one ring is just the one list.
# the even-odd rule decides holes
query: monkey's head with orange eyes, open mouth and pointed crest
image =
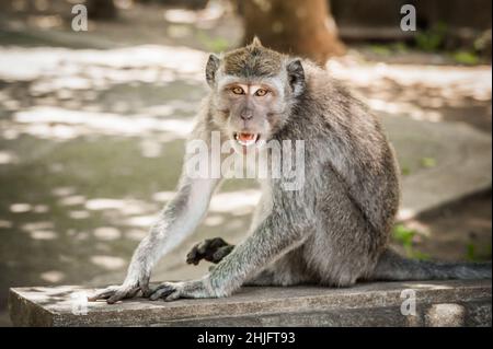
{"label": "monkey's head with orange eyes, open mouth and pointed crest", "polygon": [[301,61],[263,47],[257,38],[221,57],[210,55],[206,79],[214,120],[239,152],[270,140],[305,91]]}

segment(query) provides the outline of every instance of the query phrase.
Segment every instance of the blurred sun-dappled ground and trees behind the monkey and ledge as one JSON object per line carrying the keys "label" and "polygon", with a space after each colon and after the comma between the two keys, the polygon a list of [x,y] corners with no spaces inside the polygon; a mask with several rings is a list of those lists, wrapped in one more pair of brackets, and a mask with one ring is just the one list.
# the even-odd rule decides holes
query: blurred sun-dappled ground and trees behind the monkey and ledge
{"label": "blurred sun-dappled ground and trees behind the monkey and ledge", "polygon": [[[405,3],[416,9],[416,31],[401,28]],[[88,10],[87,31],[72,27],[77,4]],[[10,325],[10,287],[123,281],[173,195],[207,92],[208,53],[253,35],[325,66],[381,117],[402,171],[395,248],[421,259],[491,259],[491,7],[0,1],[0,325]],[[186,252],[206,237],[241,241],[257,199],[253,182],[225,183],[152,279],[205,274],[206,264],[185,264]]]}

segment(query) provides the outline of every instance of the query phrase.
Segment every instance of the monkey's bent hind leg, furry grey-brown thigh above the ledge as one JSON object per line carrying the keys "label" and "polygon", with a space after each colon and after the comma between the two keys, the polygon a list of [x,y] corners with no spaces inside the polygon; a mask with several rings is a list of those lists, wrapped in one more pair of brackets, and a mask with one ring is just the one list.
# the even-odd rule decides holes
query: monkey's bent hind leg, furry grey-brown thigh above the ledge
{"label": "monkey's bent hind leg, furry grey-brown thigh above the ledge", "polygon": [[372,229],[344,186],[333,182],[323,193],[319,229],[305,244],[305,260],[322,284],[351,287],[374,269],[386,236]]}

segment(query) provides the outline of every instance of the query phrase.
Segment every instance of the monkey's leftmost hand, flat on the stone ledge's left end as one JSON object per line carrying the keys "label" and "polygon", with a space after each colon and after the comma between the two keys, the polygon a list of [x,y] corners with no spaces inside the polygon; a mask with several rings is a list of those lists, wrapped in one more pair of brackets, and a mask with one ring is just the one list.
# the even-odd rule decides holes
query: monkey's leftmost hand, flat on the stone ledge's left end
{"label": "monkey's leftmost hand, flat on the stone ledge's left end", "polygon": [[150,294],[148,275],[142,274],[137,281],[125,280],[122,286],[110,286],[106,289],[100,290],[93,295],[88,296],[88,301],[95,302],[98,300],[106,300],[107,304],[114,304],[121,300],[135,298],[139,294],[142,296],[148,296]]}

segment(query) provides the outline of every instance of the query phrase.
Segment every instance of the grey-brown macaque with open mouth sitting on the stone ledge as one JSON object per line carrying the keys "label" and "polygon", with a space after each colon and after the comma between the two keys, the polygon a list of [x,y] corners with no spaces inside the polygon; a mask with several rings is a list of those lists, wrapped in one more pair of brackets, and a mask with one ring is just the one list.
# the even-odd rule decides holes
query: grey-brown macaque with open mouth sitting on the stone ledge
{"label": "grey-brown macaque with open mouth sitting on the stone ledge", "polygon": [[208,274],[150,287],[153,265],[195,230],[223,179],[193,178],[184,166],[175,196],[135,251],[123,284],[90,301],[222,298],[242,286],[491,278],[491,263],[417,261],[389,247],[400,202],[393,148],[379,119],[325,69],[254,38],[210,55],[205,78],[209,93],[190,140],[210,144],[217,131],[238,154],[267,151],[267,141],[303,140],[302,186],[286,190],[283,177],[260,179],[261,200],[242,243],[199,243],[187,263],[215,263]]}

